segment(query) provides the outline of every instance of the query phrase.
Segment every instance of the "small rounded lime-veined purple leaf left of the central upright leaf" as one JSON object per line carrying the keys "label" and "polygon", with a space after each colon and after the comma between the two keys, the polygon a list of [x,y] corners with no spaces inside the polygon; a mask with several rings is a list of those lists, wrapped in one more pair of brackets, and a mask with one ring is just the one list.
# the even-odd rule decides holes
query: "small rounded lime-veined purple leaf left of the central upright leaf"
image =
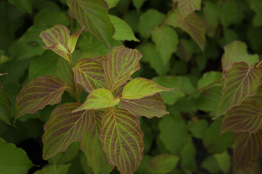
{"label": "small rounded lime-veined purple leaf left of the central upright leaf", "polygon": [[98,88],[105,88],[104,68],[94,59],[81,59],[72,68],[75,82],[81,84],[87,93]]}

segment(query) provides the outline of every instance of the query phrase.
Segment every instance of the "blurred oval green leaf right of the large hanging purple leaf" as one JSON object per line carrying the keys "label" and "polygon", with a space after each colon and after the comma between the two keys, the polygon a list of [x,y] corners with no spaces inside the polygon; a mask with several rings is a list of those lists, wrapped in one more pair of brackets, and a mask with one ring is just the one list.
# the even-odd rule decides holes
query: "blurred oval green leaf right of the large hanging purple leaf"
{"label": "blurred oval green leaf right of the large hanging purple leaf", "polygon": [[[177,115],[163,117],[159,122],[160,140],[172,154],[178,154],[188,140],[184,121]],[[170,136],[172,135],[172,136]]]}

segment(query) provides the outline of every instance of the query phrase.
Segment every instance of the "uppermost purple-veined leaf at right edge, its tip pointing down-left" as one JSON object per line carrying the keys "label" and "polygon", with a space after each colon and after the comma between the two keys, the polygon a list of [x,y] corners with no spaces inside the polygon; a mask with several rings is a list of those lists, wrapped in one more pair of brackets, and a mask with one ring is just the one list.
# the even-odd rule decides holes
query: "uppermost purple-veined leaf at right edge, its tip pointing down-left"
{"label": "uppermost purple-veined leaf at right edge, its tip pointing down-left", "polygon": [[224,74],[226,82],[216,117],[227,113],[232,106],[240,104],[246,97],[255,95],[257,87],[261,85],[261,76],[259,68],[249,68],[245,62],[234,63]]}

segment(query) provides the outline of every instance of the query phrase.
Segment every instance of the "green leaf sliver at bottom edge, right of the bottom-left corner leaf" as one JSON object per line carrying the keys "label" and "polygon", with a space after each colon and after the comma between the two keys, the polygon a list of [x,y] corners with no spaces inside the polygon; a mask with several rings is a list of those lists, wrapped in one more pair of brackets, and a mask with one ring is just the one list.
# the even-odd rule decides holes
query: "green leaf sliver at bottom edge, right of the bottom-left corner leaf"
{"label": "green leaf sliver at bottom edge, right of the bottom-left corner leaf", "polygon": [[71,164],[53,165],[36,171],[33,174],[66,174]]}

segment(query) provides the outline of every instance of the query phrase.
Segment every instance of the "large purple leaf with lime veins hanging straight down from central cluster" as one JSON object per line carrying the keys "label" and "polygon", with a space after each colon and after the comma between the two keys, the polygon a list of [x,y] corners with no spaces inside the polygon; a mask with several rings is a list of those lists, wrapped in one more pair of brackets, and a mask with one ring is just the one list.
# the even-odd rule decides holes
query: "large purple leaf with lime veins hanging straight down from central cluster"
{"label": "large purple leaf with lime veins hanging straight down from central cluster", "polygon": [[100,141],[107,160],[121,174],[133,173],[143,158],[143,132],[138,119],[124,109],[108,109],[102,116]]}

